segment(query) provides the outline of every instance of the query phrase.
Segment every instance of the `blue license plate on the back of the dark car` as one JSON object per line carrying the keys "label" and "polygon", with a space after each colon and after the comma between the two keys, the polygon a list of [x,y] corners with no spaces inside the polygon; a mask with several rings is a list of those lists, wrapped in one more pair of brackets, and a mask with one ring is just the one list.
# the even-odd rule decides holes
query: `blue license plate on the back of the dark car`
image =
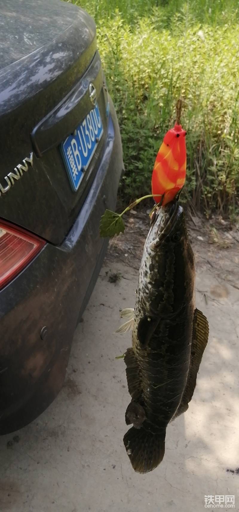
{"label": "blue license plate on the back of the dark car", "polygon": [[73,135],[61,143],[61,154],[74,191],[79,188],[82,177],[90,164],[102,137],[103,126],[96,104],[77,126]]}

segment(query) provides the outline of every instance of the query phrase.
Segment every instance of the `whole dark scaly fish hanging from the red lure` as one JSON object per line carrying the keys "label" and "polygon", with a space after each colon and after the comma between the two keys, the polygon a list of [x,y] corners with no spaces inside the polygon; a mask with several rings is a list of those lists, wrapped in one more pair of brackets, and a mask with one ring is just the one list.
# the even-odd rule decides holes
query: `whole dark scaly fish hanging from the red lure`
{"label": "whole dark scaly fish hanging from the red lure", "polygon": [[135,308],[121,311],[132,328],[124,354],[131,395],[123,438],[134,470],[163,460],[169,422],[188,409],[209,327],[195,306],[194,255],[177,199],[158,208],[145,240]]}

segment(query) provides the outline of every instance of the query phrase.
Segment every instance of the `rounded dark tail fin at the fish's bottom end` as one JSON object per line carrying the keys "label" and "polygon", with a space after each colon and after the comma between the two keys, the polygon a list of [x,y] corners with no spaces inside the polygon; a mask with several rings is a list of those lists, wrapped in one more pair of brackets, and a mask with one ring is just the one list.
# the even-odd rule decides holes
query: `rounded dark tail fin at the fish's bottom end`
{"label": "rounded dark tail fin at the fish's bottom end", "polygon": [[166,430],[154,432],[144,421],[140,429],[132,426],[124,435],[124,446],[137,473],[153,471],[163,460]]}

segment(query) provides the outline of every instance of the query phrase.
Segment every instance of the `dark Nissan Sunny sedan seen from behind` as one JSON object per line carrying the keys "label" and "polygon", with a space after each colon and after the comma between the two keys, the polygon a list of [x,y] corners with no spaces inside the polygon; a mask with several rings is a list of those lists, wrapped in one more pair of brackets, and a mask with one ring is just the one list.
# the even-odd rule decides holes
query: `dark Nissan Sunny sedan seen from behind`
{"label": "dark Nissan Sunny sedan seen from behind", "polygon": [[[62,387],[123,172],[94,20],[60,0],[5,0],[0,32],[0,434]],[[85,340],[87,343],[87,340]]]}

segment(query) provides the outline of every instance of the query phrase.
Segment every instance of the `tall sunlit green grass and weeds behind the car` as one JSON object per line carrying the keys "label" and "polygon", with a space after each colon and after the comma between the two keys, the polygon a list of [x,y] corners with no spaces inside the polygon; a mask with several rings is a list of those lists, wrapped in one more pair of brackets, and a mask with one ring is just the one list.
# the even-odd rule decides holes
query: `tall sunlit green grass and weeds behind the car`
{"label": "tall sunlit green grass and weeds behind the car", "polygon": [[[95,18],[98,47],[123,141],[124,202],[150,191],[162,138],[187,130],[184,199],[207,215],[239,212],[237,0],[77,0]],[[187,15],[186,15],[187,13]],[[187,24],[185,58],[184,33]]]}

